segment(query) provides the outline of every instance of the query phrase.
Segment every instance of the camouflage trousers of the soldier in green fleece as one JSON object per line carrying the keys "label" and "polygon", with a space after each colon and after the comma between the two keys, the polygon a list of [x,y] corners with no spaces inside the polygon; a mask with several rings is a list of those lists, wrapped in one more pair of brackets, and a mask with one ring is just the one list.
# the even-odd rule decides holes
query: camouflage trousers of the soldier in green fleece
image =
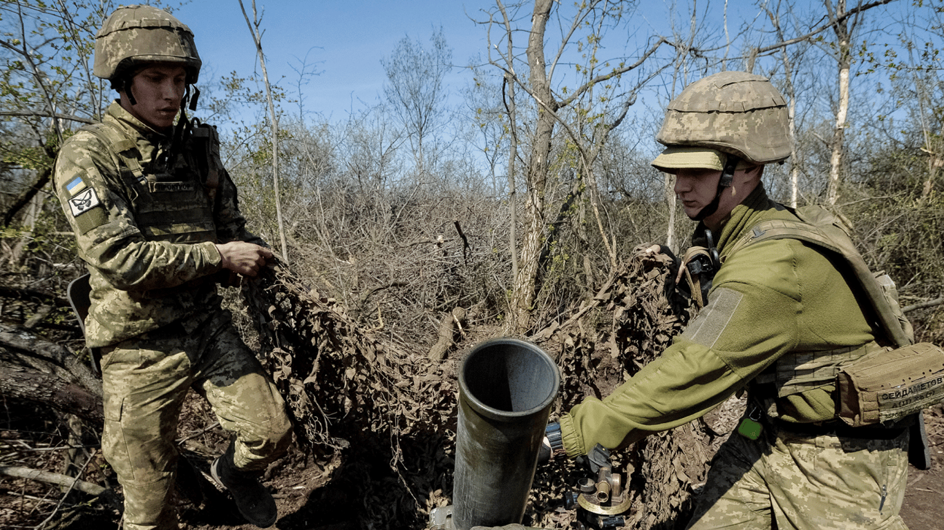
{"label": "camouflage trousers of the soldier in green fleece", "polygon": [[908,431],[894,439],[801,435],[765,425],[718,450],[690,530],[907,530],[899,511]]}

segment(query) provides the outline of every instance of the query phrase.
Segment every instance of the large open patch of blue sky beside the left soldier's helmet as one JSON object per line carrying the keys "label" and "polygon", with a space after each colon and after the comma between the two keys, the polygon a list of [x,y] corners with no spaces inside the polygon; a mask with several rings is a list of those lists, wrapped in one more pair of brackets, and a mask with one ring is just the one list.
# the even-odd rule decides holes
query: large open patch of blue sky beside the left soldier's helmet
{"label": "large open patch of blue sky beside the left soldier's helmet", "polygon": [[[244,0],[252,17],[251,0]],[[469,14],[480,15],[477,2]],[[453,0],[257,0],[263,12],[262,49],[269,78],[294,90],[302,61],[321,72],[305,90],[306,110],[321,112],[332,121],[377,103],[386,79],[380,59],[389,56],[404,36],[429,43],[434,28],[442,25],[453,49],[453,62],[484,52],[485,29],[466,16],[464,3]],[[193,0],[175,9],[175,15],[194,30],[203,59],[204,81],[236,71],[248,75],[258,69],[256,51],[237,0]],[[448,79],[458,91],[467,71],[454,70]],[[287,108],[291,111],[291,108]]]}

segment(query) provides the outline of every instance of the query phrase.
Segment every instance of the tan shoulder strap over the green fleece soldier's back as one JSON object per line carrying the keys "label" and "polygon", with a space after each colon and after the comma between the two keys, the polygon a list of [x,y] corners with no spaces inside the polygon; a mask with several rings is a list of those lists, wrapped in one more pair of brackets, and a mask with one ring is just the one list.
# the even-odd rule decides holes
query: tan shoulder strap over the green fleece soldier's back
{"label": "tan shoulder strap over the green fleece soldier's back", "polygon": [[[868,302],[889,340],[897,347],[911,344],[913,340],[905,328],[901,307],[889,301],[886,291],[894,284],[886,274],[876,278],[868,265],[855,250],[849,235],[837,223],[832,214],[820,207],[801,207],[794,211],[799,220],[771,220],[756,224],[740,240],[734,242],[726,257],[738,250],[763,240],[793,239],[813,243],[842,257],[850,265],[856,284],[868,296]],[[908,326],[910,328],[910,325]]]}

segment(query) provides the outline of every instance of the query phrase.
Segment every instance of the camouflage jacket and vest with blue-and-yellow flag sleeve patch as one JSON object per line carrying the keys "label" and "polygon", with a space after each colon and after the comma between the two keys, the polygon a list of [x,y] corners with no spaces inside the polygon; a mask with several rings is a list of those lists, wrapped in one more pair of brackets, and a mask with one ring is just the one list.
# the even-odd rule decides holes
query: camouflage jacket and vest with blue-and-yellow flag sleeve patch
{"label": "camouflage jacket and vest with blue-and-yellow flag sleeve patch", "polygon": [[92,285],[86,343],[101,347],[182,323],[193,332],[220,296],[214,243],[262,241],[245,230],[215,131],[170,138],[118,103],[63,143],[54,182]]}

